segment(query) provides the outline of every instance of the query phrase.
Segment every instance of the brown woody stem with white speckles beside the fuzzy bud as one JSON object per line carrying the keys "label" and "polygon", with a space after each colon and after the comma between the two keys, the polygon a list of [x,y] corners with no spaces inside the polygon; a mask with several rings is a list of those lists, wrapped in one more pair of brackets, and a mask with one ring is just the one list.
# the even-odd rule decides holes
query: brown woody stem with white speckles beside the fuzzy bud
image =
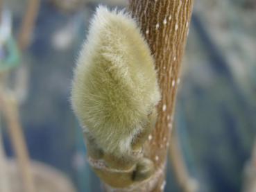
{"label": "brown woody stem with white speckles beside the fuzzy bud", "polygon": [[[151,140],[145,145],[145,155],[160,170],[166,164],[169,132],[173,123],[180,63],[187,42],[193,0],[129,0],[129,8],[137,19],[155,57],[155,67],[162,90],[158,118]],[[157,171],[156,171],[157,173]],[[153,177],[154,179],[154,177]],[[140,191],[163,191],[165,174],[157,175],[157,182],[146,189],[152,180],[139,186]]]}

